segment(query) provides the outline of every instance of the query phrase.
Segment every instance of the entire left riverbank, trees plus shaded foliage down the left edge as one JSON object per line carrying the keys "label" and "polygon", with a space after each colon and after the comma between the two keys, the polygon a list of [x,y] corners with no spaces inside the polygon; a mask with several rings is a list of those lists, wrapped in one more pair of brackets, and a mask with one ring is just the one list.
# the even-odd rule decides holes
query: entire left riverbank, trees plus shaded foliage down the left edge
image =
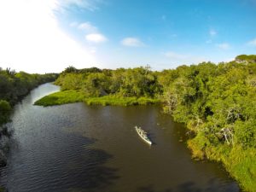
{"label": "entire left riverbank, trees plus shaded foliage down the left edge", "polygon": [[[53,82],[56,78],[56,73],[16,73],[14,70],[11,71],[10,68],[3,70],[0,67],[0,167],[7,165],[9,137],[11,134],[4,125],[11,120],[10,116],[13,113],[15,104],[20,102],[38,85]],[[0,192],[5,190],[0,186]]]}

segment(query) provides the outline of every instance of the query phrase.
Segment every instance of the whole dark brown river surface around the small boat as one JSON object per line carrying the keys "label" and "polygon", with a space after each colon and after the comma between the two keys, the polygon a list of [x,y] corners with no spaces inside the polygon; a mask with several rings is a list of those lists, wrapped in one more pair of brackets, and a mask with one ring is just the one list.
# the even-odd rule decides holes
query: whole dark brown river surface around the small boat
{"label": "whole dark brown river surface around the small boat", "polygon": [[[160,107],[100,107],[84,103],[42,108],[39,97],[59,90],[44,84],[15,108],[8,166],[9,192],[237,192],[215,163],[191,160],[183,127]],[[138,137],[135,125],[154,145]]]}

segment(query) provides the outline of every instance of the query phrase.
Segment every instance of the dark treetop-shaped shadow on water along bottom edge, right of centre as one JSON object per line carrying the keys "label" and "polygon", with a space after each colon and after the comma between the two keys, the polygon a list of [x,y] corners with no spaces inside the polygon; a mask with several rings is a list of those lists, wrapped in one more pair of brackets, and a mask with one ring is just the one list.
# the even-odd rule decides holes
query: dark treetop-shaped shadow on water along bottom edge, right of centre
{"label": "dark treetop-shaped shadow on water along bottom edge, right of centre", "polygon": [[201,186],[196,185],[194,182],[186,182],[178,185],[175,188],[155,190],[153,185],[148,185],[145,187],[138,188],[135,192],[239,192],[236,184],[233,186],[219,188],[219,185],[216,183],[215,179],[210,179],[207,183],[207,187],[202,188]]}

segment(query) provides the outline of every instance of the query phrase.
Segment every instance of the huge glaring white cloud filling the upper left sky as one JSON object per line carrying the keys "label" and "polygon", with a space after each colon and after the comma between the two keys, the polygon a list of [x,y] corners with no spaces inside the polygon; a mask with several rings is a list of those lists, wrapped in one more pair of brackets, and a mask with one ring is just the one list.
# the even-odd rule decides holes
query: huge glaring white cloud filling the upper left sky
{"label": "huge glaring white cloud filling the upper left sky", "polygon": [[[0,1],[0,66],[28,73],[90,67],[96,58],[58,25],[61,0]],[[71,1],[70,1],[71,2]],[[12,11],[10,11],[12,10]]]}

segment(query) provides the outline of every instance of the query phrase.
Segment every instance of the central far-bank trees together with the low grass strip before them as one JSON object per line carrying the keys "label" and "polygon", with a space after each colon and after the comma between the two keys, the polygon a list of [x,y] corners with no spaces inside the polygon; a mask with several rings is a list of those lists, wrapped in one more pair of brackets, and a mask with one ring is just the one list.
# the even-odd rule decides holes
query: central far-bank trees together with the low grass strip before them
{"label": "central far-bank trees together with the low grass strip before them", "polygon": [[67,67],[55,81],[61,86],[61,92],[45,96],[36,104],[48,106],[86,102],[127,106],[155,103],[159,102],[158,98],[162,94],[158,75],[150,67],[116,70]]}

